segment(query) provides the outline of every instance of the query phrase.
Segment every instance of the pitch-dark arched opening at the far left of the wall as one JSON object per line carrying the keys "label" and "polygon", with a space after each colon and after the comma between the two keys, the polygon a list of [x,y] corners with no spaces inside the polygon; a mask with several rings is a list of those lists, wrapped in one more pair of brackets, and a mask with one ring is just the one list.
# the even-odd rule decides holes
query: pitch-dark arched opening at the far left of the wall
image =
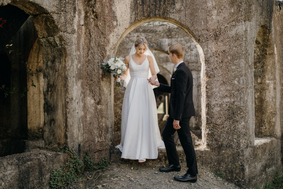
{"label": "pitch-dark arched opening at the far left of the wall", "polygon": [[[24,140],[27,139],[27,101],[26,92],[26,57],[30,43],[26,42],[28,37],[33,43],[33,30],[27,33],[21,33],[22,27],[26,27],[29,22],[29,15],[20,8],[13,5],[5,5],[0,7],[0,17],[5,20],[4,25],[0,29],[0,51],[4,52],[9,62],[1,59],[3,64],[9,65],[9,77],[2,81],[0,85],[5,85],[7,97],[2,99],[6,104],[2,111],[5,112],[5,121],[2,127],[6,128],[1,132],[0,136],[0,156],[24,152]],[[21,50],[20,50],[21,49]],[[21,54],[21,55],[20,55]],[[3,55],[3,54],[2,54]],[[7,71],[7,70],[6,70]],[[2,74],[7,74],[2,70]]]}

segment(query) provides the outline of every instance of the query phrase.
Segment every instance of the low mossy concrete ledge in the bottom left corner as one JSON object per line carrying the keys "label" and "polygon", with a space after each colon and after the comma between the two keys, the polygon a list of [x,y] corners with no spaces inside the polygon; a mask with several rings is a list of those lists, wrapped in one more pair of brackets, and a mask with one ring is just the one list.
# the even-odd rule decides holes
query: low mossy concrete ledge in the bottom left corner
{"label": "low mossy concrete ledge in the bottom left corner", "polygon": [[49,188],[51,170],[66,163],[68,155],[25,152],[0,158],[0,188]]}

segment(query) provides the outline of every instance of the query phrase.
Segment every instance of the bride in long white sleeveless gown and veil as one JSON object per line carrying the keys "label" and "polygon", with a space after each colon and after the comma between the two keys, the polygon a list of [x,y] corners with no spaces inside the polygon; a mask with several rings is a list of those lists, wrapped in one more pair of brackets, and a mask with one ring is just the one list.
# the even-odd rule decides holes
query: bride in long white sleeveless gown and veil
{"label": "bride in long white sleeveless gown and veil", "polygon": [[127,71],[121,76],[125,95],[122,105],[121,143],[116,146],[122,152],[121,158],[156,159],[158,148],[165,148],[158,128],[155,96],[149,80],[157,79],[157,63],[148,49],[145,38],[138,38],[125,57]]}

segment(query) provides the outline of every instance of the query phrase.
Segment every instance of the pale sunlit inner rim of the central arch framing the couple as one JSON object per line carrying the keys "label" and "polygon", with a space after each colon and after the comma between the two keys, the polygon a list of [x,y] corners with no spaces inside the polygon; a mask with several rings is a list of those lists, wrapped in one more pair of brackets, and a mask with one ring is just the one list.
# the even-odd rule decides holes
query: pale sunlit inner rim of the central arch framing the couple
{"label": "pale sunlit inner rim of the central arch framing the couple", "polygon": [[[138,21],[134,24],[132,24],[129,28],[127,28],[124,33],[120,36],[119,40],[117,41],[113,51],[112,51],[112,56],[114,56],[118,50],[118,47],[120,45],[120,43],[122,42],[122,40],[125,38],[126,35],[128,35],[132,30],[134,30],[135,28],[137,28],[138,26],[147,23],[147,22],[151,22],[151,21],[161,21],[161,22],[169,22],[172,23],[174,25],[176,25],[177,27],[183,29],[188,36],[190,36],[190,38],[194,41],[194,44],[197,48],[199,57],[200,57],[200,62],[201,62],[201,71],[200,71],[200,82],[201,82],[201,105],[200,105],[200,109],[202,109],[203,111],[201,111],[201,123],[202,125],[205,124],[205,111],[204,111],[204,104],[205,104],[205,87],[204,87],[204,83],[203,81],[203,69],[204,69],[204,54],[203,54],[203,49],[201,48],[200,44],[197,42],[196,38],[194,37],[193,33],[190,31],[189,28],[187,28],[184,24],[172,19],[172,18],[159,18],[159,17],[151,17],[151,18],[146,18],[143,19],[141,21]],[[164,50],[164,49],[163,49]],[[165,53],[165,52],[164,52]],[[168,53],[168,52],[167,52]],[[203,131],[202,131],[203,132]],[[198,133],[200,135],[200,138],[202,138],[202,143],[206,144],[206,140],[205,140],[205,134],[202,133],[200,131],[200,133]]]}

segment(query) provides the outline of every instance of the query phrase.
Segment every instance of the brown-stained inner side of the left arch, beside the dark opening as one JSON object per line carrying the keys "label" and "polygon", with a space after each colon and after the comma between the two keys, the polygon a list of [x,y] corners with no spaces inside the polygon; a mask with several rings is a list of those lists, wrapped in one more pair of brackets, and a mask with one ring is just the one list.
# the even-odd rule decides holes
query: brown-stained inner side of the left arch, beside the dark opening
{"label": "brown-stained inner side of the left arch, beside the dark opening", "polygon": [[37,142],[26,146],[62,147],[67,143],[64,38],[45,8],[28,1],[10,4],[30,15],[38,35],[28,54],[26,67],[29,73],[26,84],[33,80],[36,85],[27,92],[27,143]]}

